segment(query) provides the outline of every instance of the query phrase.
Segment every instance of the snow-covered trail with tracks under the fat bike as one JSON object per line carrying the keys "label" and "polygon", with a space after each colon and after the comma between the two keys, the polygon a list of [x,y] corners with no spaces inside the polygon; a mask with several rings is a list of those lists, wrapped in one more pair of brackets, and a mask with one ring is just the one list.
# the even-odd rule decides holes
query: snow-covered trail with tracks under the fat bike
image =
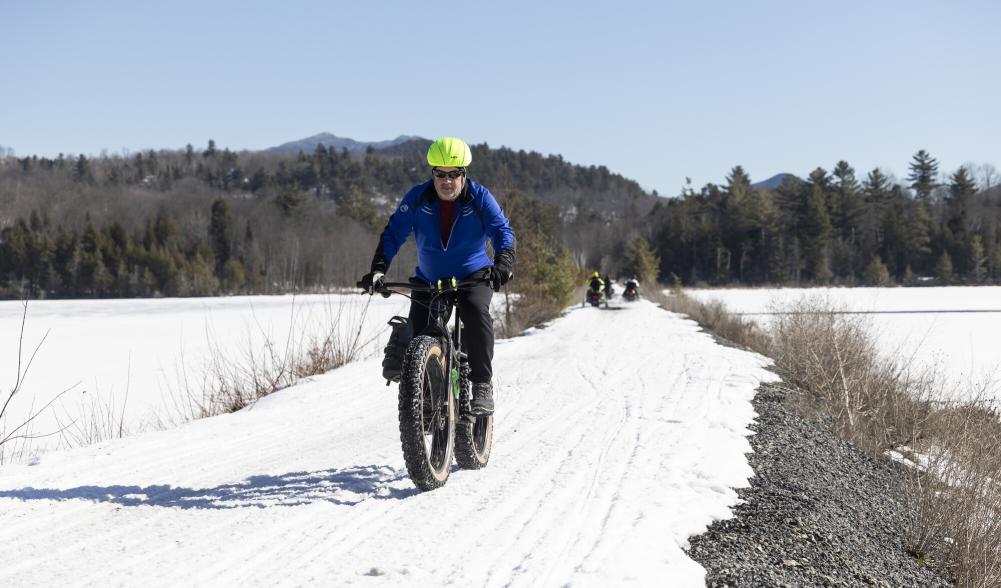
{"label": "snow-covered trail with tracks under the fat bike", "polygon": [[703,585],[768,362],[647,302],[498,342],[489,466],[417,493],[378,360],[0,468],[0,585]]}

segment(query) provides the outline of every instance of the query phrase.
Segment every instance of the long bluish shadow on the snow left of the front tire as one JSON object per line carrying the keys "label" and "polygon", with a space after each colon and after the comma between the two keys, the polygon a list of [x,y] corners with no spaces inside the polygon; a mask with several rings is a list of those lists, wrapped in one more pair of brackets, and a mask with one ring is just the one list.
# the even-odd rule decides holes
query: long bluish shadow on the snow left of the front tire
{"label": "long bluish shadow on the snow left of the front tire", "polygon": [[[405,480],[407,487],[395,484]],[[80,486],[66,490],[22,488],[0,490],[0,498],[19,500],[90,500],[122,506],[181,509],[267,508],[317,502],[354,505],[375,500],[401,500],[417,494],[405,472],[385,466],[353,466],[280,476],[251,476],[215,488],[154,486]]]}

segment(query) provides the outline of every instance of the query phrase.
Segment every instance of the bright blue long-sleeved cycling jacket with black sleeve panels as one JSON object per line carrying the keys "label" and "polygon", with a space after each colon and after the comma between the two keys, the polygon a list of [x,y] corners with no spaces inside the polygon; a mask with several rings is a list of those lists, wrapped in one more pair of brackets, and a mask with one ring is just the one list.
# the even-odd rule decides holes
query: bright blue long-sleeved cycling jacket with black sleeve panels
{"label": "bright blue long-sleeved cycling jacket with black sleeve panels", "polygon": [[488,189],[466,180],[456,202],[460,207],[451,234],[448,242],[441,242],[441,215],[433,182],[428,180],[410,188],[382,230],[379,251],[385,256],[386,266],[411,232],[417,244],[416,275],[424,281],[462,279],[490,265],[486,237],[492,241],[494,252],[515,249],[515,231]]}

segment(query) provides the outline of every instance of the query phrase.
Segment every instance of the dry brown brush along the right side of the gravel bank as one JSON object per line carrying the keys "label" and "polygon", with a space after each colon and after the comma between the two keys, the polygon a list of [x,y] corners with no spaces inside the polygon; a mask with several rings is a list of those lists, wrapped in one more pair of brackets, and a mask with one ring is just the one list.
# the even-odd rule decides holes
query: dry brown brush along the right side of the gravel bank
{"label": "dry brown brush along the right side of the gravel bank", "polygon": [[[878,353],[871,328],[823,302],[787,309],[768,333],[681,291],[651,297],[773,358],[804,394],[794,405],[877,457],[910,460],[908,549],[960,586],[1001,586],[1001,413],[983,391],[946,401],[936,375]],[[952,398],[956,398],[953,395]]]}

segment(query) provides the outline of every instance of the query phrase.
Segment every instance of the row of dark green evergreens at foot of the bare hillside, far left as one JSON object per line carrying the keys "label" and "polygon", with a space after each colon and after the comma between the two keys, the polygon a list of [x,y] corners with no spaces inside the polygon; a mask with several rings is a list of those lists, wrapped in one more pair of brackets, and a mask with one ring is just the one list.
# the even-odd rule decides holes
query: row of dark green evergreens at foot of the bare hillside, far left
{"label": "row of dark green evergreens at foot of the bare hillside, far left", "polygon": [[[32,211],[3,230],[0,295],[30,298],[213,296],[260,289],[265,278],[253,254],[237,257],[225,231],[226,201],[212,204],[208,238],[189,239],[166,212],[130,233],[120,222],[82,230],[53,224]],[[244,242],[252,242],[252,235]]]}

